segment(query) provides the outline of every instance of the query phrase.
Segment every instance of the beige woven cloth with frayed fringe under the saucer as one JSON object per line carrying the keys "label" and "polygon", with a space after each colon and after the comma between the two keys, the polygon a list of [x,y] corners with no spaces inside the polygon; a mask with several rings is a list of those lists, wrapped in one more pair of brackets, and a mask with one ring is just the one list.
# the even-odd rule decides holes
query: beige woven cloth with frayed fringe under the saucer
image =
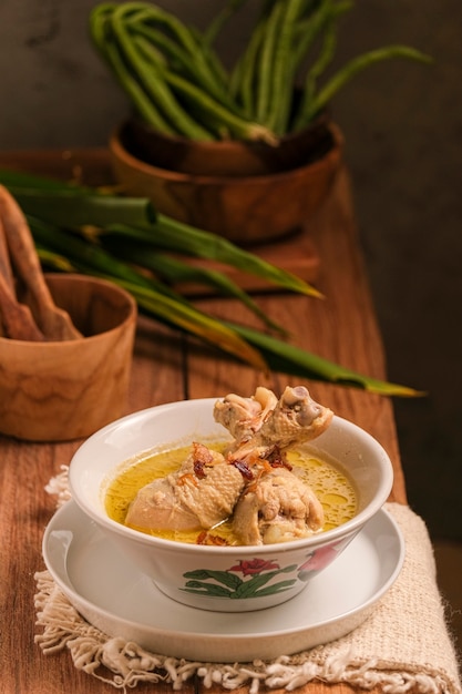
{"label": "beige woven cloth with frayed fringe under the saucer", "polygon": [[[66,470],[48,491],[59,504],[68,497]],[[113,639],[85,622],[48,571],[35,574],[35,641],[44,653],[66,649],[75,667],[124,692],[141,682],[168,682],[173,690],[193,676],[205,686],[247,685],[292,691],[308,682],[348,683],[386,694],[461,694],[455,650],[435,576],[432,545],[423,520],[409,507],[388,503],[405,542],[402,571],[368,620],[332,643],[275,661],[198,663],[154,654]]]}

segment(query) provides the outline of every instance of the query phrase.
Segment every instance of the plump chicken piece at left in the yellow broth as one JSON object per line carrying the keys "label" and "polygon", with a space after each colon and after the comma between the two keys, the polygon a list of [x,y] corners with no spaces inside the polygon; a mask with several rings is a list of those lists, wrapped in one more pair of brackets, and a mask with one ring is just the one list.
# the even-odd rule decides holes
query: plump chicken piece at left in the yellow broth
{"label": "plump chicken piece at left in the yellow broth", "polygon": [[142,530],[209,529],[230,516],[243,488],[243,476],[220,453],[194,443],[178,471],[138,491],[125,524]]}

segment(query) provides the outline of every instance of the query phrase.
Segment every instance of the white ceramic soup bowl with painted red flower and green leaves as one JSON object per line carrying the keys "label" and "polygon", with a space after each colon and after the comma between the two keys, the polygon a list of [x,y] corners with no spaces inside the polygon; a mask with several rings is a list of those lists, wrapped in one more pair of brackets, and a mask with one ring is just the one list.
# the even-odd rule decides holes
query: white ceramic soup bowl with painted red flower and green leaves
{"label": "white ceramic soup bowl with painted red flower and green leaves", "polygon": [[[338,528],[279,544],[211,547],[162,540],[109,518],[104,509],[107,483],[133,456],[167,445],[228,438],[213,418],[215,402],[216,398],[207,398],[161,405],[107,425],[72,458],[71,492],[80,508],[119,547],[121,561],[132,561],[166,595],[217,612],[260,610],[292,598],[311,576],[335,561],[387,500],[393,480],[392,466],[369,433],[333,417],[328,430],[310,448],[338,460],[356,484],[358,512]],[[211,572],[223,573],[212,576]],[[265,582],[269,573],[271,578]],[[257,582],[260,588],[255,590]],[[201,594],[194,592],[198,586]]]}

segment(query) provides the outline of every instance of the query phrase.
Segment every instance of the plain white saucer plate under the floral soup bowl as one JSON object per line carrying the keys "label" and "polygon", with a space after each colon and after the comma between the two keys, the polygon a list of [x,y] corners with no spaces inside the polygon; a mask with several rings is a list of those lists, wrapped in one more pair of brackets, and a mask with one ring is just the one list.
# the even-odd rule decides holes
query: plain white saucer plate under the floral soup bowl
{"label": "plain white saucer plate under the floral soup bowl", "polygon": [[401,532],[381,510],[291,600],[251,612],[209,612],[164,595],[73,501],[53,516],[43,538],[48,570],[88,622],[153,653],[219,663],[271,660],[346,635],[390,589],[403,557]]}

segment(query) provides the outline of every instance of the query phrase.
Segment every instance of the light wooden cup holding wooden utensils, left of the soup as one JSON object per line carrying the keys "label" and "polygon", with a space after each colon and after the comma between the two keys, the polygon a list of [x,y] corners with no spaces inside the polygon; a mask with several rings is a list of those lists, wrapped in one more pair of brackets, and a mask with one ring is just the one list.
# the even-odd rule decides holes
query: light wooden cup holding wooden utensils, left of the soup
{"label": "light wooden cup holding wooden utensils, left of the soup", "polygon": [[45,275],[82,339],[0,338],[0,431],[32,441],[88,437],[126,407],[136,303],[115,284]]}

